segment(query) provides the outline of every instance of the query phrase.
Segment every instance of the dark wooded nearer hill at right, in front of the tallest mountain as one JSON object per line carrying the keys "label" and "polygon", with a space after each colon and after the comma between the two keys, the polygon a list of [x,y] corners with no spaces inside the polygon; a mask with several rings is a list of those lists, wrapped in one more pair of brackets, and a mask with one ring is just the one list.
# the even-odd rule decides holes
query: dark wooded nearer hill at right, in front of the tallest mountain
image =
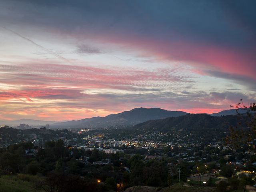
{"label": "dark wooded nearer hill at right, in front of the tallest mountain", "polygon": [[187,130],[206,130],[206,129],[218,129],[229,128],[230,125],[235,126],[238,122],[238,117],[234,115],[229,116],[210,116],[208,114],[188,114],[179,117],[170,117],[158,120],[149,120],[134,126],[136,129],[148,129],[148,130],[170,130],[175,129],[187,129]]}

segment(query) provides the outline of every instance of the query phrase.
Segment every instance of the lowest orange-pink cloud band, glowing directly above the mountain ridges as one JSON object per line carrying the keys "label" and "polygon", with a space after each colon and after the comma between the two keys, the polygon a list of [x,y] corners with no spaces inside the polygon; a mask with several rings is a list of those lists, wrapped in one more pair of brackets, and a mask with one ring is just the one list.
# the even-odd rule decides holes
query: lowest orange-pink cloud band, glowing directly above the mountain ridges
{"label": "lowest orange-pink cloud band, glowing directly above the mountain ridges", "polygon": [[[34,91],[33,91],[34,90]],[[73,97],[70,95],[74,93]],[[34,104],[33,102],[24,102],[19,100],[27,95],[34,98],[44,98],[46,100],[58,99],[56,102],[46,102]],[[224,92],[215,94],[212,92],[190,93],[184,92],[177,95],[172,92],[164,94],[80,94],[79,90],[12,90],[2,94],[6,98],[0,98],[0,105],[6,106],[0,109],[2,117],[10,118],[21,113],[20,118],[27,116],[36,116],[44,120],[74,120],[89,118],[93,116],[106,116],[111,113],[130,110],[135,107],[157,107],[166,110],[183,110],[190,113],[213,113],[220,110],[230,109],[230,104],[236,104],[241,94]],[[16,101],[12,100],[12,107],[8,99],[17,97]],[[32,98],[30,97],[30,98]],[[244,96],[245,100],[248,97]],[[66,99],[62,102],[62,99]],[[33,98],[32,98],[33,100]],[[67,102],[68,101],[68,102]],[[221,104],[215,104],[219,102]],[[104,111],[101,111],[104,108]],[[82,110],[85,109],[85,110]],[[93,109],[93,110],[88,110]],[[6,116],[6,114],[8,114]]]}

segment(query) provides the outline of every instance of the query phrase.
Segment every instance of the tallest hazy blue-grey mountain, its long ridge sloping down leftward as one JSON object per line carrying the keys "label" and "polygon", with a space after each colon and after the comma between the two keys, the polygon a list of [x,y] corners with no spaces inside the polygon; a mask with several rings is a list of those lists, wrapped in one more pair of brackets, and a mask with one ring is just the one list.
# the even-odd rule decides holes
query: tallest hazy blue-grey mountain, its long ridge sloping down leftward
{"label": "tallest hazy blue-grey mountain, its long ridge sloping down leftward", "polygon": [[168,111],[160,108],[134,108],[106,117],[93,117],[77,121],[54,123],[51,128],[100,128],[106,126],[135,125],[148,120],[186,115],[183,111]]}

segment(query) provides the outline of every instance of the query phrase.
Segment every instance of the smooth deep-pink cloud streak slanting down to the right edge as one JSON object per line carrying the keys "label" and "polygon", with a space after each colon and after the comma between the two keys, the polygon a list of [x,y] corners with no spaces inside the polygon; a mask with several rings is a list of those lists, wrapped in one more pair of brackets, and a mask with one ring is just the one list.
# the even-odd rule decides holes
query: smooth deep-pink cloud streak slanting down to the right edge
{"label": "smooth deep-pink cloud streak slanting down to the right edge", "polygon": [[[82,38],[78,36],[78,38]],[[93,38],[93,36],[92,36]],[[94,37],[96,38],[96,37]],[[214,44],[188,40],[166,41],[141,36],[97,36],[100,42],[120,44],[140,51],[140,56],[156,57],[164,61],[181,61],[194,66],[194,71],[207,74],[207,70],[217,70],[230,74],[249,76],[255,79],[255,47],[250,50],[228,48]],[[209,75],[209,74],[208,74]]]}

